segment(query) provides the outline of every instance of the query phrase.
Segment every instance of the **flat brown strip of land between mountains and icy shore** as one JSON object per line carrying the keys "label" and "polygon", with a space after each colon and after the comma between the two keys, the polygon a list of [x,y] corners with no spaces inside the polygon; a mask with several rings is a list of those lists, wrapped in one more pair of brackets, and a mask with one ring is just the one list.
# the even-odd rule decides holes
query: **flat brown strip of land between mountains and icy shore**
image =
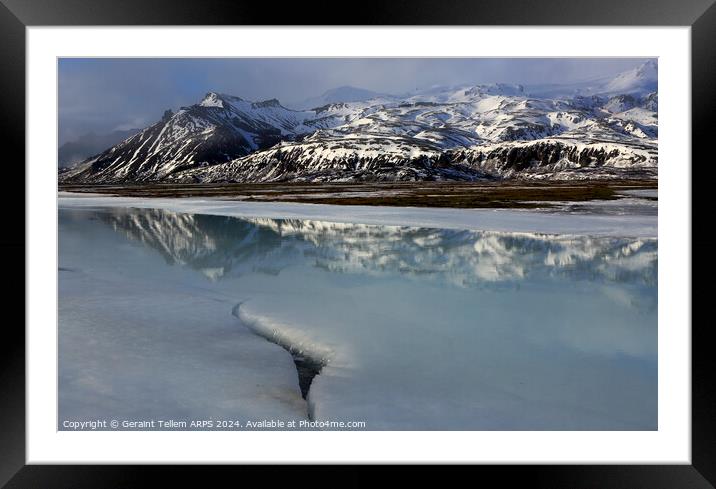
{"label": "flat brown strip of land between mountains and icy shore", "polygon": [[626,190],[656,188],[656,180],[60,185],[61,191],[122,197],[220,197],[254,202],[453,208],[549,207],[553,202],[614,200],[622,198],[620,192]]}

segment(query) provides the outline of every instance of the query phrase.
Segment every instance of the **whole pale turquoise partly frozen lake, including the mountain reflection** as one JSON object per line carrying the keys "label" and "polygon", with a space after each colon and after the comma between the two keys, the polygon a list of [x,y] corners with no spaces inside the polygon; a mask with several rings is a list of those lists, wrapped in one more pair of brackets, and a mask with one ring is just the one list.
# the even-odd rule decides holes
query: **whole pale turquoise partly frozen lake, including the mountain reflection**
{"label": "whole pale turquoise partly frozen lake, including the mountain reflection", "polygon": [[[60,429],[657,429],[650,221],[588,236],[77,201],[59,211]],[[322,366],[306,399],[286,349]]]}

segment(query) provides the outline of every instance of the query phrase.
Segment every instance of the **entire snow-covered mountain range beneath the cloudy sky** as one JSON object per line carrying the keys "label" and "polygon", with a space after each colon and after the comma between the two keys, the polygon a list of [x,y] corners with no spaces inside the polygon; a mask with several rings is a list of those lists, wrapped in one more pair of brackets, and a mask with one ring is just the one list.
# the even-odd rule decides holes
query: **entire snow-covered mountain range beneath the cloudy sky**
{"label": "entire snow-covered mountain range beneath the cloudy sky", "polygon": [[656,62],[580,86],[569,96],[534,96],[508,84],[434,87],[400,97],[364,95],[370,98],[298,111],[275,99],[250,102],[208,93],[200,103],[167,111],[156,124],[61,173],[60,180],[657,175]]}

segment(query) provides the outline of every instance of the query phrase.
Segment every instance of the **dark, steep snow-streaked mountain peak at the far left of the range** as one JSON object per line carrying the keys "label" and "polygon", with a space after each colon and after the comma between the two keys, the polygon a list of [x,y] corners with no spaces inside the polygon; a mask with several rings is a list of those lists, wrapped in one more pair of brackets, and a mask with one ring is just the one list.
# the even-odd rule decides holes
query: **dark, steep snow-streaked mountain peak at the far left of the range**
{"label": "dark, steep snow-streaked mountain peak at the far left of the range", "polygon": [[231,161],[311,132],[312,112],[278,100],[250,102],[214,92],[61,174],[65,181],[161,180],[182,170]]}

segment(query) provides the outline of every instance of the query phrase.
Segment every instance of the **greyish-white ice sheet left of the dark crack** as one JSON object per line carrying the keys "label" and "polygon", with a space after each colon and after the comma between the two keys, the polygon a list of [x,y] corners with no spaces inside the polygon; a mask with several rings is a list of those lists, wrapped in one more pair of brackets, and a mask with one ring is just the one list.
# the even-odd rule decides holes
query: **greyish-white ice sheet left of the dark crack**
{"label": "greyish-white ice sheet left of the dark crack", "polygon": [[60,429],[64,420],[305,419],[291,358],[227,313],[233,297],[80,212],[61,212],[59,223]]}

